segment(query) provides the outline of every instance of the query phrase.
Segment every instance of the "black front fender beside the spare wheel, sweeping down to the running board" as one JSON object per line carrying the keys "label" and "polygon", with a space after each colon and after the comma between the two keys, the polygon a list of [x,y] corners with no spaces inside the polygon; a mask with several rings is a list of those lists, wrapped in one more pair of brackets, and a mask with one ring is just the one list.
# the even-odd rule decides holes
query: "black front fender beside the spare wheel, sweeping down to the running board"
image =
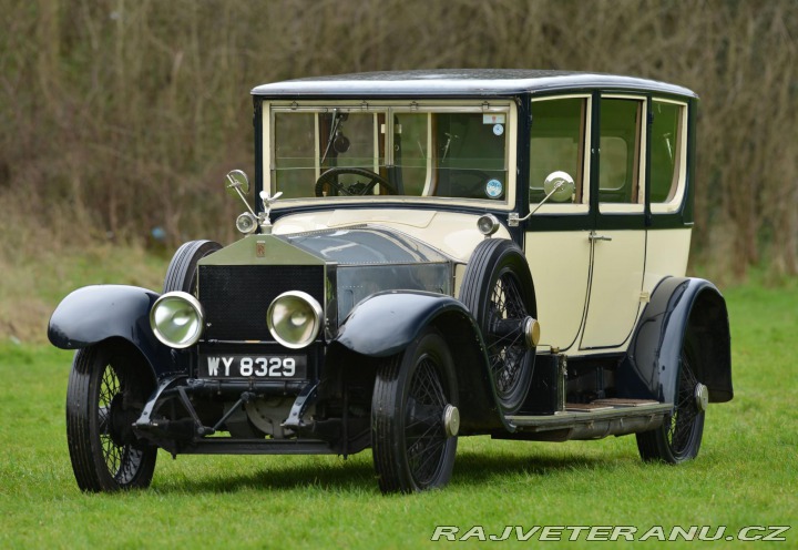
{"label": "black front fender beside the spare wheel, sweeping down to the running board", "polygon": [[468,308],[451,296],[421,291],[377,293],[352,308],[334,344],[367,357],[389,357],[430,325],[441,332],[454,359],[460,432],[509,428],[499,414],[482,335]]}

